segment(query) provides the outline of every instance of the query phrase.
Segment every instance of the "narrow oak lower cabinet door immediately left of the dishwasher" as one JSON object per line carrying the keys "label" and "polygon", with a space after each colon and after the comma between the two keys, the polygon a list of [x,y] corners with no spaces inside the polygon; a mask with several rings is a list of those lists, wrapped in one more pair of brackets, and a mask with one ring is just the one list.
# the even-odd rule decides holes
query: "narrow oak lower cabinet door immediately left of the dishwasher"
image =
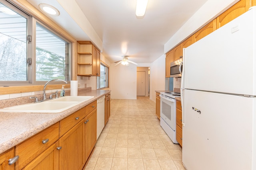
{"label": "narrow oak lower cabinet door immediately left of the dishwasher", "polygon": [[85,154],[86,160],[90,156],[97,141],[97,109],[85,117]]}

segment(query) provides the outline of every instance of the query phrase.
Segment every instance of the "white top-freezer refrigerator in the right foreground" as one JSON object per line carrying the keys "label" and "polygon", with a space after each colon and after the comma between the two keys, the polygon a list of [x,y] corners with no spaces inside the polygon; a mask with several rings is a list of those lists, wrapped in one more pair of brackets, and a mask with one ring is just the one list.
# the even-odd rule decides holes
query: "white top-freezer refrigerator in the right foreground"
{"label": "white top-freezer refrigerator in the right foreground", "polygon": [[256,8],[184,49],[182,163],[256,170]]}

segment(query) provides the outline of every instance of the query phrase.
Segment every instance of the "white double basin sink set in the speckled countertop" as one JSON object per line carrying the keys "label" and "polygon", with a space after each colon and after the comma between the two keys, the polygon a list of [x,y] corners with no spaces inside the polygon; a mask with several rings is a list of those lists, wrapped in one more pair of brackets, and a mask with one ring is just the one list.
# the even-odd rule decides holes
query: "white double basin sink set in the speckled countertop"
{"label": "white double basin sink set in the speckled countertop", "polygon": [[70,109],[94,96],[64,96],[57,99],[47,100],[39,103],[30,103],[14,107],[0,109],[1,112],[26,112],[26,113],[60,113]]}

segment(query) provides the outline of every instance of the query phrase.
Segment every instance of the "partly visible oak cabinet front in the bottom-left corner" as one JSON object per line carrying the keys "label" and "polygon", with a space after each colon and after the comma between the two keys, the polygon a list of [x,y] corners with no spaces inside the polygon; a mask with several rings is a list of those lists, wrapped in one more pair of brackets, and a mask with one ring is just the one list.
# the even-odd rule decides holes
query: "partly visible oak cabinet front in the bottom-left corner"
{"label": "partly visible oak cabinet front in the bottom-left corner", "polygon": [[8,165],[8,160],[14,157],[14,148],[0,154],[0,170],[14,170],[14,164]]}

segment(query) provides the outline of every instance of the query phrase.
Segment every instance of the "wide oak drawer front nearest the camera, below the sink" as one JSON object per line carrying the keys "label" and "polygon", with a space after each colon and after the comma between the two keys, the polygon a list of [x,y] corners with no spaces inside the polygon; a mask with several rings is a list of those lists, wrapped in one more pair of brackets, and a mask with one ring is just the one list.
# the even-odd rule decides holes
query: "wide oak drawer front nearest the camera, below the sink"
{"label": "wide oak drawer front nearest the camera, below the sink", "polygon": [[20,156],[20,158],[15,163],[15,169],[22,169],[58,139],[59,122],[18,144],[15,147],[15,155]]}

